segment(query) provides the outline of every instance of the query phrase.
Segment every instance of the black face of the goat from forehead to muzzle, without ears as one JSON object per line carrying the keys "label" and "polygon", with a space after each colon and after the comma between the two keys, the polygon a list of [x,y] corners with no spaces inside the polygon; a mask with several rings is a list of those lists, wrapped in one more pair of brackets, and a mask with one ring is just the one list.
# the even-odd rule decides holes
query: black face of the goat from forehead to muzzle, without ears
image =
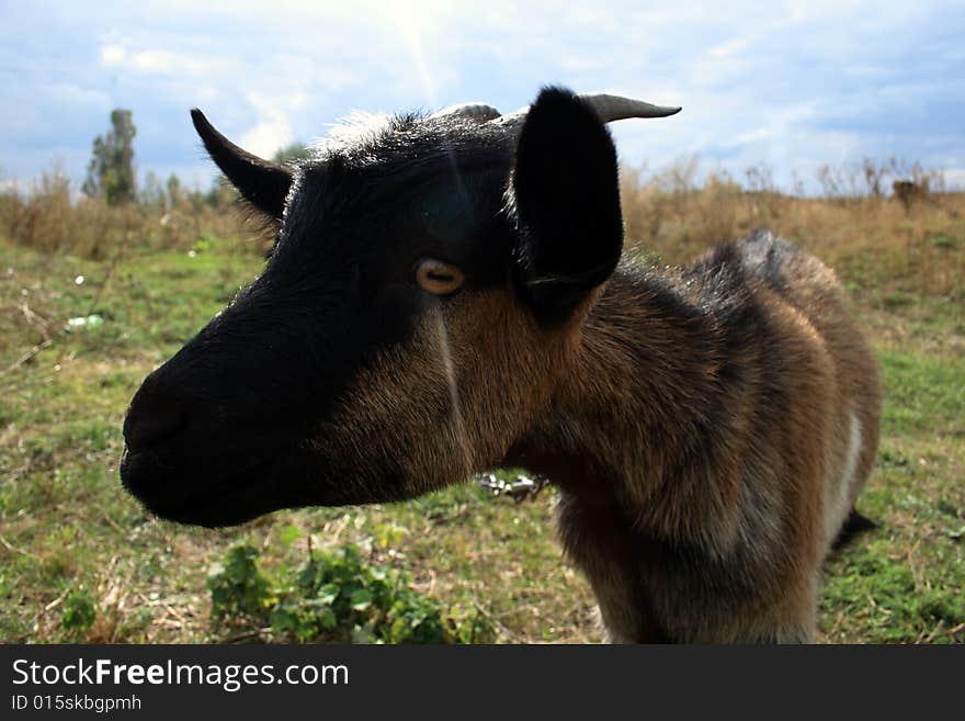
{"label": "black face of the goat from forehead to muzzle, without ears", "polygon": [[[440,302],[415,280],[420,260],[463,269],[465,290],[507,284],[508,165],[478,160],[305,168],[264,272],[134,397],[125,487],[159,516],[205,526],[376,499],[344,482],[352,459],[319,458],[314,441],[359,370]],[[398,469],[383,475],[377,499],[401,497]]]}

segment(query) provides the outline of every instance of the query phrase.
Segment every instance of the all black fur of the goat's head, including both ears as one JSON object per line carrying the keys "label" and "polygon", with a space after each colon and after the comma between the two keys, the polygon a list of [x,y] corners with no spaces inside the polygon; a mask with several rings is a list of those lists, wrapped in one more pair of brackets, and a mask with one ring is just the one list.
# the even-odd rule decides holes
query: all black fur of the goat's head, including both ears
{"label": "all black fur of the goat's head, including both ears", "polygon": [[[588,132],[609,151],[602,183],[615,191],[612,143],[595,115],[567,93],[544,95],[531,112],[538,122],[527,122],[536,139],[526,142],[524,128],[519,147],[490,126],[404,117],[294,173],[249,156],[197,113],[212,157],[249,202],[282,216],[282,229],[263,273],[135,395],[124,423],[124,486],[155,514],[203,526],[279,508],[411,495],[412,465],[394,455],[405,449],[366,453],[377,446],[377,424],[360,425],[351,437],[338,426],[347,407],[359,403],[360,376],[377,363],[401,375],[407,345],[430,311],[484,289],[525,303],[520,282],[538,275],[534,262],[546,258],[554,272],[574,266],[574,258],[533,247],[543,243],[542,221],[526,199],[542,202],[554,183],[572,192],[580,185],[572,176],[587,171],[580,162],[560,166],[540,137],[572,143]],[[541,111],[541,103],[561,103],[565,126],[541,132],[540,123],[559,124],[552,120],[556,111]],[[526,155],[534,157],[530,165],[522,162]],[[514,164],[515,174],[540,190],[516,190],[507,203]],[[536,182],[534,164],[547,164],[546,188]],[[586,195],[579,191],[572,202],[550,206],[552,227],[564,228],[554,230],[560,243],[566,228],[588,226],[587,218],[558,217],[566,206],[586,204]],[[612,207],[606,213],[613,225]],[[618,200],[616,214],[618,225]],[[574,254],[576,244],[564,246]],[[613,255],[612,244],[605,254]],[[455,295],[416,282],[427,258],[462,271],[465,282]],[[540,288],[550,294],[550,284],[541,280]],[[570,278],[561,293],[584,291]],[[553,296],[553,317],[568,304]],[[395,365],[385,365],[386,357]],[[401,408],[402,423],[405,417]],[[353,482],[363,462],[367,480]]]}

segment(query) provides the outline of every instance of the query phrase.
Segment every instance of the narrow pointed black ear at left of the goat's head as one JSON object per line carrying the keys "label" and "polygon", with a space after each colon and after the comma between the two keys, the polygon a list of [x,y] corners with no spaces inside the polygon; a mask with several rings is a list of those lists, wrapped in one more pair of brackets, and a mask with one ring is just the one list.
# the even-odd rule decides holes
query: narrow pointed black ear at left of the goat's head
{"label": "narrow pointed black ear at left of the goat's head", "polygon": [[292,187],[292,171],[239,148],[218,133],[197,108],[191,111],[191,120],[211,159],[241,196],[262,213],[281,221]]}

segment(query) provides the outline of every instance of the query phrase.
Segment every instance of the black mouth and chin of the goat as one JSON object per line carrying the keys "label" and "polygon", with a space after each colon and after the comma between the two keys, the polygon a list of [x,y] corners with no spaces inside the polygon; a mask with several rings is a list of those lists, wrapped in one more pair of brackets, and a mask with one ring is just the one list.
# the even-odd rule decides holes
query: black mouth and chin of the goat
{"label": "black mouth and chin of the goat", "polygon": [[218,528],[291,505],[284,484],[277,482],[279,466],[273,455],[240,467],[194,472],[156,451],[125,448],[120,470],[124,488],[152,515]]}

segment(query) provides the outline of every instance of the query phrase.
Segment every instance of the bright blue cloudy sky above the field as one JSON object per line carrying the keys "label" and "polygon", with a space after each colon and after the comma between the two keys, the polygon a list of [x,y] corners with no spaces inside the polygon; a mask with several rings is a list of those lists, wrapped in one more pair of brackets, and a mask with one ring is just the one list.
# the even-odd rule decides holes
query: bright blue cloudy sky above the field
{"label": "bright blue cloudy sky above the field", "polygon": [[207,188],[193,106],[271,156],[355,110],[511,112],[555,83],[682,105],[611,126],[650,171],[697,156],[813,189],[824,164],[896,156],[965,188],[963,38],[962,0],[0,0],[0,183],[57,167],[79,185],[113,108],[141,176]]}

